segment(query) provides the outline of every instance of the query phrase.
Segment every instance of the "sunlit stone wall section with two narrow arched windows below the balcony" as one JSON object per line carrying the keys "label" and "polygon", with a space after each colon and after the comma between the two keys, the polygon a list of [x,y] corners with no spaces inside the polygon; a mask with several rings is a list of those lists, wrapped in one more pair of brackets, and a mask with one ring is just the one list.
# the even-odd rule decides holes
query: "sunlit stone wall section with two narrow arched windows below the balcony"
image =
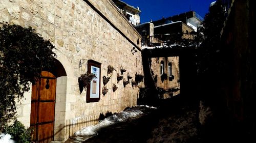
{"label": "sunlit stone wall section with two narrow arched windows below the balcony", "polygon": [[[180,89],[180,73],[179,73],[179,56],[172,56],[166,58],[151,58],[151,69],[154,72],[154,77],[157,76],[157,87],[163,88],[163,90],[168,89]],[[160,74],[160,63],[164,62],[164,73],[167,74],[167,79],[163,82],[161,81]],[[174,75],[173,80],[169,80],[168,78],[168,63],[172,64],[172,75]],[[175,96],[180,94],[180,90],[166,93],[163,95],[163,98],[169,98],[170,96]]]}

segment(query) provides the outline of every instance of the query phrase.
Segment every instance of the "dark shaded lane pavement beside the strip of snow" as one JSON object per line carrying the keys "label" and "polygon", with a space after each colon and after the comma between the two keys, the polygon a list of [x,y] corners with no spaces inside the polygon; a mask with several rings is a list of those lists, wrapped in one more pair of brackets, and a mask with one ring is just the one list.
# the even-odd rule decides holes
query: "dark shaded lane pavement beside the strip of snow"
{"label": "dark shaded lane pavement beside the strip of snow", "polygon": [[[92,142],[201,142],[197,107],[182,98],[160,103],[158,109],[142,109],[143,114],[102,128],[94,136],[72,136],[65,143]],[[174,139],[172,139],[174,137]]]}

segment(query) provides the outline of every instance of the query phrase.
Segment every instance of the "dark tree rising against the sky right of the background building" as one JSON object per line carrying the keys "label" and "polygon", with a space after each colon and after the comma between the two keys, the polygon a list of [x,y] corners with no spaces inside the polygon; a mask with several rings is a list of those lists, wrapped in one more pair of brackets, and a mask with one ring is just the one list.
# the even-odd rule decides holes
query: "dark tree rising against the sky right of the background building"
{"label": "dark tree rising against the sky right of the background building", "polygon": [[214,70],[218,69],[218,52],[221,50],[219,44],[224,21],[225,12],[222,2],[218,0],[215,5],[209,8],[209,12],[204,17],[203,26],[199,28],[200,35],[198,38],[201,38],[201,41],[199,40],[201,42],[199,74],[213,78],[212,75],[216,75]]}

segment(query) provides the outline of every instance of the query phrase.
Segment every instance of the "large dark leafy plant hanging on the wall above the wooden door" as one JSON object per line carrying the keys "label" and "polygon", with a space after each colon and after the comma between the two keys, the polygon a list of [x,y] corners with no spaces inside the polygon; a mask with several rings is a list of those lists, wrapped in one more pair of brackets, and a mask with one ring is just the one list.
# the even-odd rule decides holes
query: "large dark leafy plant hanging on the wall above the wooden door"
{"label": "large dark leafy plant hanging on the wall above the wooden door", "polygon": [[[1,25],[1,23],[0,23]],[[55,47],[34,30],[19,25],[0,27],[0,127],[13,119],[21,99],[42,69],[53,64]],[[2,128],[0,128],[0,131]]]}

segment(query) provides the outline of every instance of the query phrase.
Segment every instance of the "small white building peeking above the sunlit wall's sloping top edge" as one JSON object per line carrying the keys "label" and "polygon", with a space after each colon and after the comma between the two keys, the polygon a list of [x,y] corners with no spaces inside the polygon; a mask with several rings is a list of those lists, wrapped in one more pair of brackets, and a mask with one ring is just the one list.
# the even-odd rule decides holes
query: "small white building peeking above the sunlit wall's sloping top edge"
{"label": "small white building peeking above the sunlit wall's sloping top edge", "polygon": [[118,9],[123,13],[123,15],[129,20],[133,25],[140,24],[140,13],[139,7],[135,8],[130,6],[120,0],[113,0]]}

